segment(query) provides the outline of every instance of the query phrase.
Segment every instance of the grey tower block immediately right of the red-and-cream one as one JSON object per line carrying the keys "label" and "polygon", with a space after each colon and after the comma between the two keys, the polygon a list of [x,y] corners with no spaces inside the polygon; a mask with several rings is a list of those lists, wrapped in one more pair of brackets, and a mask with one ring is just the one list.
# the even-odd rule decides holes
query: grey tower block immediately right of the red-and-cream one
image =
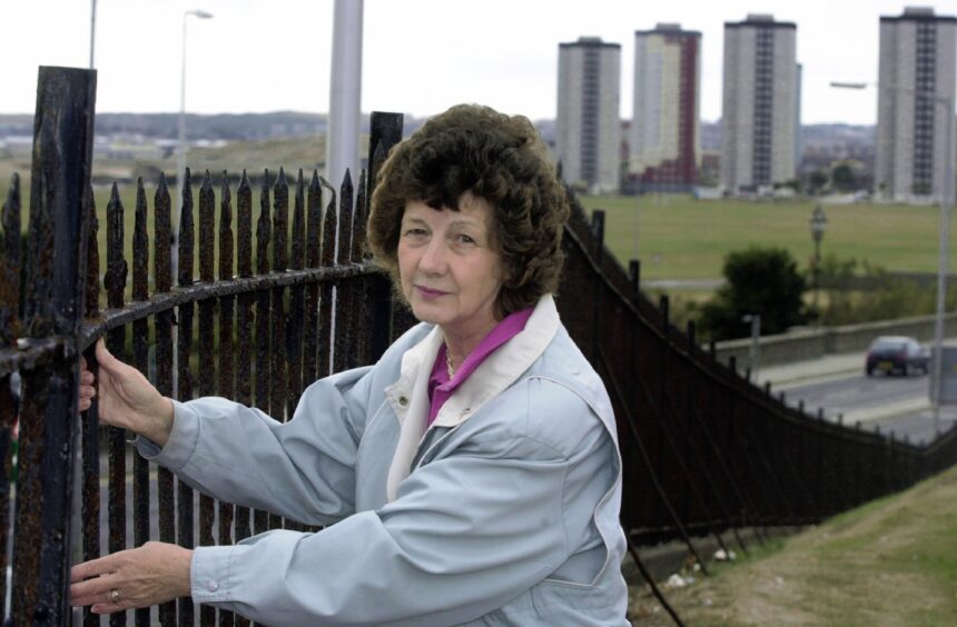
{"label": "grey tower block immediately right of the red-and-cream one", "polygon": [[763,14],[724,22],[721,185],[732,193],[796,176],[797,30]]}

